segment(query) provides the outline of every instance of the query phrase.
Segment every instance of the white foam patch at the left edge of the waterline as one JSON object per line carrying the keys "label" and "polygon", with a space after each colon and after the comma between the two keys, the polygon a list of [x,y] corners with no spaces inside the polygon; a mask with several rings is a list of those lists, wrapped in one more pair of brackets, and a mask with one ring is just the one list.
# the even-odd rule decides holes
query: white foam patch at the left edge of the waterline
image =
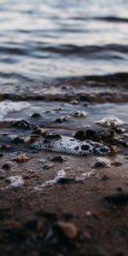
{"label": "white foam patch at the left edge of the waterline", "polygon": [[28,102],[12,102],[9,100],[0,102],[0,121],[3,120],[8,113],[20,112],[26,108],[30,108]]}

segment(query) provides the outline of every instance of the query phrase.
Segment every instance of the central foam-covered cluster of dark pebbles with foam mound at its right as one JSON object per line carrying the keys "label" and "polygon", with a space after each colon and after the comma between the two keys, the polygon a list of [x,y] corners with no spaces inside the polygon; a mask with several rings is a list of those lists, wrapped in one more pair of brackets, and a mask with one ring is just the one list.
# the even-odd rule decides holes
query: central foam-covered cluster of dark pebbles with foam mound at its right
{"label": "central foam-covered cluster of dark pebbles with foam mound at its right", "polygon": [[123,132],[120,125],[123,122],[115,116],[107,116],[96,123],[107,126],[107,130],[79,130],[73,137],[64,137],[59,134],[44,134],[38,141],[32,143],[32,148],[49,149],[67,154],[109,154],[119,151],[117,144],[123,143],[119,133]]}

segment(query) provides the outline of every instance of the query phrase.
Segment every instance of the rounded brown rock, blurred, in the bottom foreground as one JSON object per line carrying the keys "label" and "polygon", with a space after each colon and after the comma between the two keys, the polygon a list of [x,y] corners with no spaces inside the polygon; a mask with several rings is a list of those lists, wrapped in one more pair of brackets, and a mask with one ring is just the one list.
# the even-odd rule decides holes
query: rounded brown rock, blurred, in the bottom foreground
{"label": "rounded brown rock, blurred, in the bottom foreground", "polygon": [[76,225],[69,222],[57,221],[53,226],[53,230],[61,238],[75,239],[78,236]]}

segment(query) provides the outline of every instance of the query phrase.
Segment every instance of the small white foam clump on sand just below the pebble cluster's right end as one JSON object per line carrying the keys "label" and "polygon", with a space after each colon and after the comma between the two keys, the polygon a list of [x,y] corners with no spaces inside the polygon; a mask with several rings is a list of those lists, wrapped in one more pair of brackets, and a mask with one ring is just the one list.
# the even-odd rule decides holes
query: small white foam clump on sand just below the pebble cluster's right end
{"label": "small white foam clump on sand just below the pebble cluster's right end", "polygon": [[104,157],[96,157],[96,160],[91,165],[92,168],[99,168],[99,167],[110,168],[110,166],[111,166],[110,161]]}

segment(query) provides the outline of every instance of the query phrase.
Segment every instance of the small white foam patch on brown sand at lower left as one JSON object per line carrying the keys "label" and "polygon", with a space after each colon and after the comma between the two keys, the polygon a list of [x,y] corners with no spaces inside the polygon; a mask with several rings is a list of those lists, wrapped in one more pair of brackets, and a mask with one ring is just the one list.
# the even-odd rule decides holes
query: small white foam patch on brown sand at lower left
{"label": "small white foam patch on brown sand at lower left", "polygon": [[24,184],[24,180],[21,176],[10,176],[7,177],[7,182],[9,182],[9,185],[6,186],[5,189],[9,189],[11,187],[20,187]]}

